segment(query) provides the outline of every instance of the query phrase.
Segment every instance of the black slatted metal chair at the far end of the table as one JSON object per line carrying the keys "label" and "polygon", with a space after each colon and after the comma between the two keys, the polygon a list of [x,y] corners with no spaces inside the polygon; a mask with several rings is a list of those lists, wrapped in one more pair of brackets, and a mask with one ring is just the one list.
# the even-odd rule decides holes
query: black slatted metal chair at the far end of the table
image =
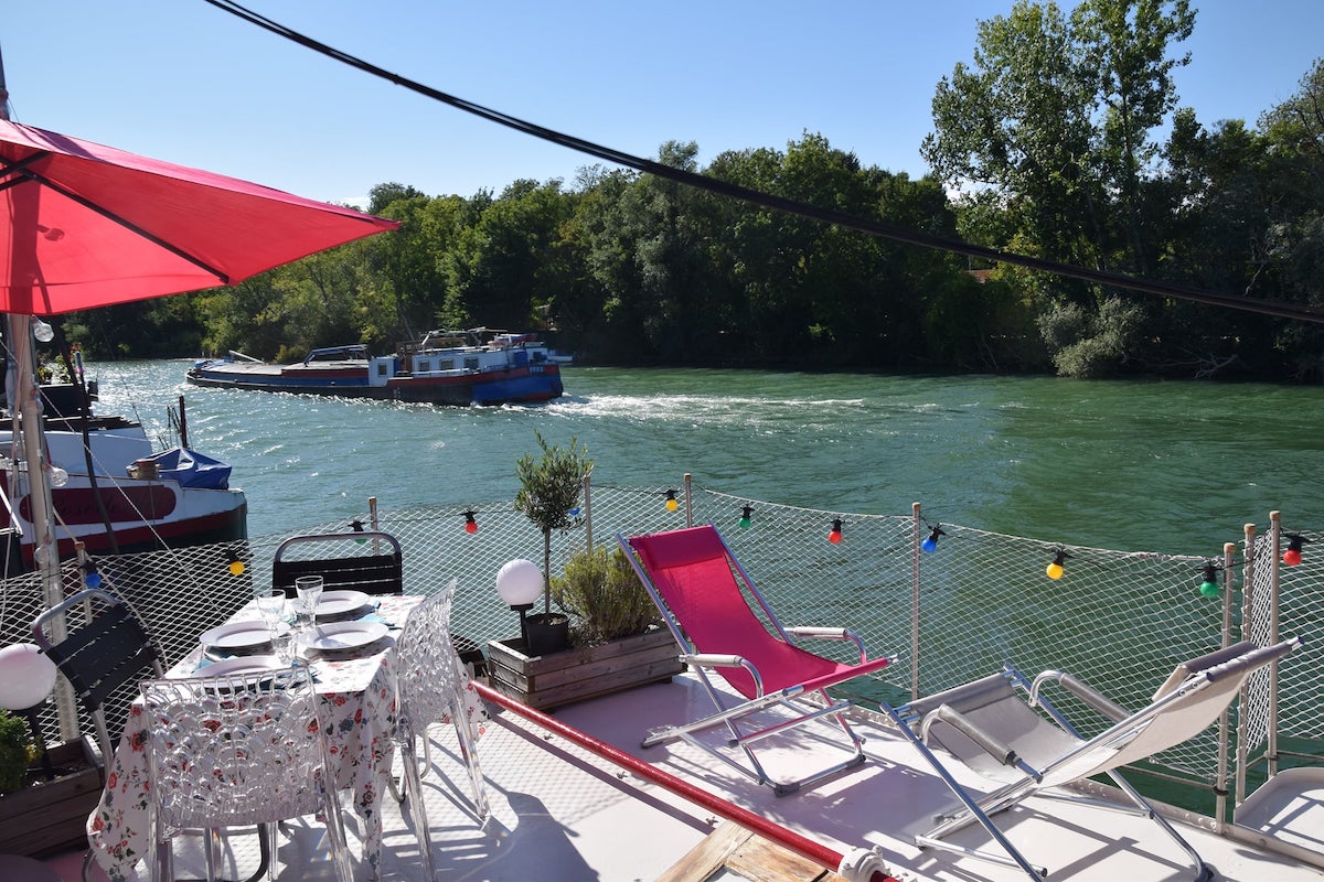
{"label": "black slatted metal chair at the far end of the table", "polygon": [[[334,557],[298,557],[310,546],[334,547],[340,553]],[[294,549],[298,551],[291,554]],[[271,586],[293,598],[294,581],[301,575],[320,575],[327,591],[404,592],[400,542],[389,533],[377,530],[315,533],[281,542],[271,559]]]}

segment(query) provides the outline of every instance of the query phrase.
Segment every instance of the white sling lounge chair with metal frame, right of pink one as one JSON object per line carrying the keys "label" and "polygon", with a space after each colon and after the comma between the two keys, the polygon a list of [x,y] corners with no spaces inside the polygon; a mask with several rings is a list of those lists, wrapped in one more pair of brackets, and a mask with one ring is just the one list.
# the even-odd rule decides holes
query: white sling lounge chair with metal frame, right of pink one
{"label": "white sling lounge chair with metal frame, right of pink one", "polygon": [[[1264,648],[1247,641],[1180,664],[1155,693],[1149,706],[1133,714],[1070,674],[1046,670],[1030,682],[1012,665],[1006,665],[1002,673],[902,707],[884,703],[883,710],[964,804],[952,815],[940,816],[940,824],[916,836],[915,844],[1019,866],[1031,879],[1046,877],[1047,870],[1031,865],[990,816],[1043,788],[1107,774],[1141,815],[1158,824],[1186,852],[1196,865],[1193,878],[1197,882],[1211,878],[1213,870],[1196,850],[1116,770],[1204,731],[1231,703],[1254,670],[1282,659],[1300,644],[1299,637]],[[1086,705],[1112,719],[1113,725],[1094,738],[1082,738],[1039,694],[1047,681],[1059,682]],[[1047,717],[1035,707],[1043,709]],[[933,750],[935,746],[941,751]],[[986,795],[970,793],[945,767],[944,763],[952,759],[984,778],[1005,782],[1005,785]],[[970,850],[944,841],[944,836],[973,822],[982,825],[1006,854]]]}

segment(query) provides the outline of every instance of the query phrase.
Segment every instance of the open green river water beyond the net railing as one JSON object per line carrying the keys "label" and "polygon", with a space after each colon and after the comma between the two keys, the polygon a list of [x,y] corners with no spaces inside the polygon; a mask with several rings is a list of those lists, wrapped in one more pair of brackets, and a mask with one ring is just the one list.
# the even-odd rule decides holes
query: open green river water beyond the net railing
{"label": "open green river water beyond the net railing", "polygon": [[1047,542],[1214,555],[1243,524],[1324,528],[1324,389],[745,370],[568,368],[564,398],[440,409],[197,389],[188,361],[102,364],[99,413],[234,467],[249,532],[514,499],[515,460],[577,438],[593,480],[906,514]]}

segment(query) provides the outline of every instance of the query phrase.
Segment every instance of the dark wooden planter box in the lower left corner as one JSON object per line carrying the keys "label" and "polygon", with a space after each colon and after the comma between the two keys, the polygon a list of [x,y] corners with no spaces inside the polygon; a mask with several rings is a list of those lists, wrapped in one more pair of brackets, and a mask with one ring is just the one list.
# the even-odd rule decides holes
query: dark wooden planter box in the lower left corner
{"label": "dark wooden planter box in the lower left corner", "polygon": [[[46,857],[87,848],[87,816],[101,800],[103,772],[87,739],[48,748],[54,780],[28,772],[28,785],[0,796],[0,853]],[[40,764],[38,764],[40,768]]]}

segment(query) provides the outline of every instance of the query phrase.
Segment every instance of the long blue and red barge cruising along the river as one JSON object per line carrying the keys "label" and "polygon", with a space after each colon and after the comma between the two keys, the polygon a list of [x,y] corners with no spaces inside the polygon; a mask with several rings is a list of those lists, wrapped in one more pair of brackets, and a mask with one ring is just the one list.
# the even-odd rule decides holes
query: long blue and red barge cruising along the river
{"label": "long blue and red barge cruising along the river", "polygon": [[389,356],[367,346],[314,349],[278,365],[232,352],[188,372],[197,386],[376,398],[432,405],[536,403],[560,398],[560,365],[532,333],[432,331]]}

